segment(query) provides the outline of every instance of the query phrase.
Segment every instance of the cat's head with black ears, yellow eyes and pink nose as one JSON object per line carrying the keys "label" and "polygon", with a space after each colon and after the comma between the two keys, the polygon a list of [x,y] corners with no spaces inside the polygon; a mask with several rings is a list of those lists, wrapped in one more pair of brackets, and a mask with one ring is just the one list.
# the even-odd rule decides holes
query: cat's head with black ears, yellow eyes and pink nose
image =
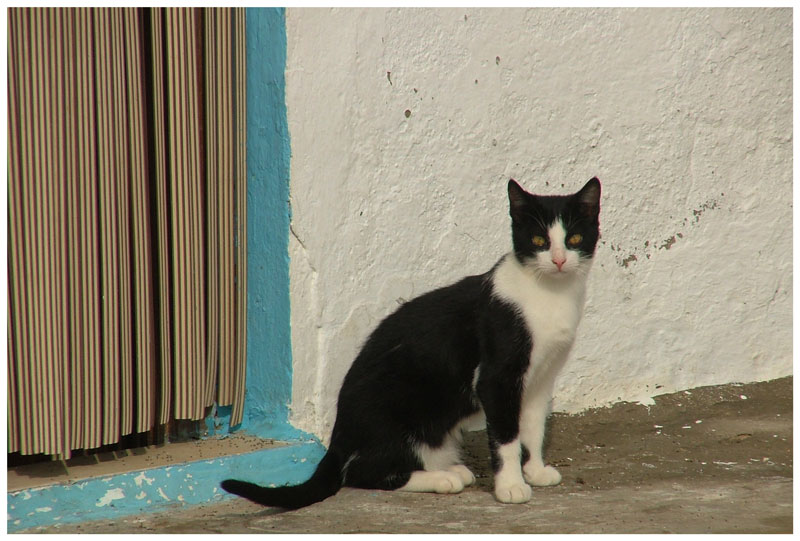
{"label": "cat's head with black ears, yellow eyes and pink nose", "polygon": [[600,237],[600,181],[571,195],[534,195],[508,182],[514,254],[537,276],[585,274]]}

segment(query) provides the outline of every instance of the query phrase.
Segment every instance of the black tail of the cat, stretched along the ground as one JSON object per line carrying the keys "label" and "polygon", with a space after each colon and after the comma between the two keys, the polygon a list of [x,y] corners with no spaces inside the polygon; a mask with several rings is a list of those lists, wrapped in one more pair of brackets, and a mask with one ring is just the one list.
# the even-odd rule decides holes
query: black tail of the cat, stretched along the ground
{"label": "black tail of the cat, stretched along the ground", "polygon": [[333,496],[339,492],[342,484],[341,460],[338,453],[329,449],[322,457],[314,474],[303,484],[268,488],[247,481],[227,479],[221,483],[221,486],[231,494],[261,505],[299,509]]}

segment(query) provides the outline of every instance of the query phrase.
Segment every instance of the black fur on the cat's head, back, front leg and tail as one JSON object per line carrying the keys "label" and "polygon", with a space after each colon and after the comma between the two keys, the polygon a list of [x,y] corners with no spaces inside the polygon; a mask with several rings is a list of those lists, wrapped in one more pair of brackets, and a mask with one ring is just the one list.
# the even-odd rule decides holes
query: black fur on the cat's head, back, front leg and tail
{"label": "black fur on the cat's head, back, front leg and tail", "polygon": [[[533,255],[532,235],[558,215],[580,230],[580,250],[592,256],[597,179],[572,196],[533,196],[513,180],[508,191],[520,261]],[[344,378],[330,447],[308,481],[264,488],[228,480],[222,488],[290,509],[321,501],[344,485],[397,489],[422,469],[414,444],[441,445],[459,421],[481,408],[496,465],[497,446],[519,430],[522,377],[534,344],[514,307],[492,295],[495,268],[417,297],[378,325]]]}

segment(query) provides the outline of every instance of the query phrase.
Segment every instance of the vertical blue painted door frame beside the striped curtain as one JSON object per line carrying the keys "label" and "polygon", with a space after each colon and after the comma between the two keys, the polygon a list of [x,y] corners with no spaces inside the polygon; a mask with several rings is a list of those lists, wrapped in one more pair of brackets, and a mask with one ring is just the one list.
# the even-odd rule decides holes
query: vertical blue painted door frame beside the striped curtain
{"label": "vertical blue painted door frame beside the striped curtain", "polygon": [[[293,439],[283,9],[247,10],[247,392],[242,428]],[[278,434],[279,436],[276,436]]]}

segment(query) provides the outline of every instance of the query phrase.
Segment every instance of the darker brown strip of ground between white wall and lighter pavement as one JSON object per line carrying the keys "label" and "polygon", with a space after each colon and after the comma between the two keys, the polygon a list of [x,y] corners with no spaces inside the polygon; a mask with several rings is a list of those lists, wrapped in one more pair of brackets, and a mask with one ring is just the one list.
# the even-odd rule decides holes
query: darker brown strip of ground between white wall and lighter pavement
{"label": "darker brown strip of ground between white wall and lighter pavement", "polygon": [[[545,460],[570,489],[607,489],[687,478],[792,476],[792,378],[700,387],[550,419]],[[485,432],[466,441],[491,487]]]}

